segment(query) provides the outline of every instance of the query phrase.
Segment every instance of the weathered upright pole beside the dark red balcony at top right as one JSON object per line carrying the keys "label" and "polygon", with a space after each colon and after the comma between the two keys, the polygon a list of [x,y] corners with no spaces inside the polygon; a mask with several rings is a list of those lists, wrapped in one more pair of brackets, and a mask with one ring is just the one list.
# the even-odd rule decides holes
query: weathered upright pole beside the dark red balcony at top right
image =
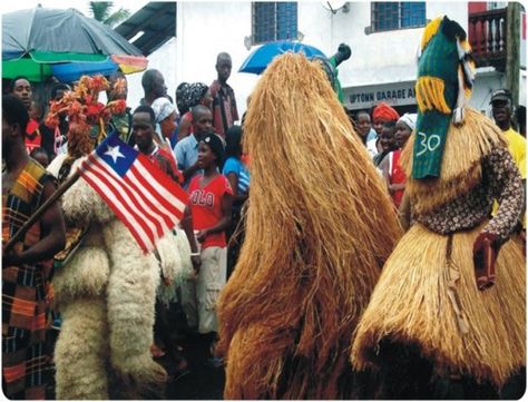
{"label": "weathered upright pole beside the dark red balcony at top right", "polygon": [[506,88],[511,91],[514,106],[519,105],[520,69],[520,3],[508,2],[506,9]]}

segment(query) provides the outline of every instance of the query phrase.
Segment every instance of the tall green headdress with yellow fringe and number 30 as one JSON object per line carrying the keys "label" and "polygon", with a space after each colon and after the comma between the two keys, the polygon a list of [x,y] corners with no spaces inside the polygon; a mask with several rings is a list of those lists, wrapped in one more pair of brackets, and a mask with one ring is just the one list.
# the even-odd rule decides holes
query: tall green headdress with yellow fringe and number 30
{"label": "tall green headdress with yellow fringe and number 30", "polygon": [[440,176],[449,125],[463,124],[473,81],[475,62],[465,30],[447,17],[436,18],[420,43],[413,178]]}

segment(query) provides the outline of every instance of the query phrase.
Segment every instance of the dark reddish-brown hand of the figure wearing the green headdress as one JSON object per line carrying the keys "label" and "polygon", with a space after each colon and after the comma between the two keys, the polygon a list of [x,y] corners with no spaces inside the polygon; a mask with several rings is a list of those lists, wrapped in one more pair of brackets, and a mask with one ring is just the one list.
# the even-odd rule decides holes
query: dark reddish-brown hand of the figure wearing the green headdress
{"label": "dark reddish-brown hand of the figure wearing the green headdress", "polygon": [[475,277],[479,291],[493,286],[496,281],[495,263],[499,253],[497,235],[482,232],[473,243]]}

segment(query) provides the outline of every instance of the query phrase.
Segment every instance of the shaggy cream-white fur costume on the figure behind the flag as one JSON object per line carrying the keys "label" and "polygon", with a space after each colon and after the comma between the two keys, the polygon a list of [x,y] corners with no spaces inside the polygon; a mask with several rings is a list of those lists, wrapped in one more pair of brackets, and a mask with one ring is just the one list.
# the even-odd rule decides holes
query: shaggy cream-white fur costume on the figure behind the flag
{"label": "shaggy cream-white fur costume on the figure behind the flag", "polygon": [[[57,176],[65,158],[57,156],[48,170]],[[118,380],[111,384],[113,393],[118,388],[129,395],[159,388],[166,372],[149,351],[160,280],[156,257],[143,254],[127,227],[82,178],[62,196],[62,209],[68,225],[90,223],[90,229],[53,277],[63,320],[55,350],[57,399],[108,400],[110,378]],[[162,265],[182,265],[173,234],[157,248]]]}

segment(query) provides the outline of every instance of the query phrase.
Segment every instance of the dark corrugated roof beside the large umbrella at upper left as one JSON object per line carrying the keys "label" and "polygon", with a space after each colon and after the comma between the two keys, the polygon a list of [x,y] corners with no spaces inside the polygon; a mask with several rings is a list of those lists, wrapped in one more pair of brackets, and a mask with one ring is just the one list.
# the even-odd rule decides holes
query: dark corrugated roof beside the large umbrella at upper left
{"label": "dark corrugated roof beside the large umbrella at upper left", "polygon": [[176,36],[176,2],[153,1],[121,22],[115,30],[127,40],[144,31],[145,33],[131,43],[139,48],[144,56],[148,56]]}

